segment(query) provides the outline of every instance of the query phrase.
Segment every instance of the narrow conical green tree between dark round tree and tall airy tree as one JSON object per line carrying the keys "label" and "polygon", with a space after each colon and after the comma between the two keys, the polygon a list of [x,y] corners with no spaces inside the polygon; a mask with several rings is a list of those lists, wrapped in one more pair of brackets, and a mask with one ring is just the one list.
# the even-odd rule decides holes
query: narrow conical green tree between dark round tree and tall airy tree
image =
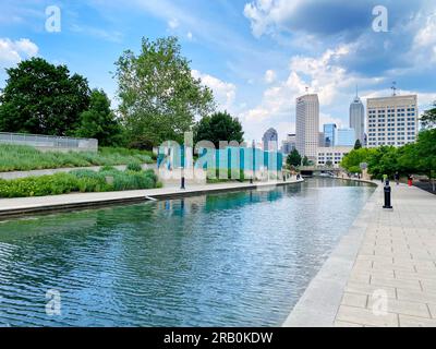
{"label": "narrow conical green tree between dark round tree and tall airy tree", "polygon": [[82,112],[76,136],[97,139],[102,146],[119,145],[122,129],[110,109],[110,100],[105,92],[93,89],[89,109]]}

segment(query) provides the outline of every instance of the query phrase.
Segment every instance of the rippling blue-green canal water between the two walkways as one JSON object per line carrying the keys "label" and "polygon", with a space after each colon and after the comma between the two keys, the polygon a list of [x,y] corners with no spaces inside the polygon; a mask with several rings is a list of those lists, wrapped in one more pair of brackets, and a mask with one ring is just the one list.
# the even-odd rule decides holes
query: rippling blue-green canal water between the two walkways
{"label": "rippling blue-green canal water between the two walkways", "polygon": [[373,192],[310,179],[0,222],[0,326],[280,326]]}

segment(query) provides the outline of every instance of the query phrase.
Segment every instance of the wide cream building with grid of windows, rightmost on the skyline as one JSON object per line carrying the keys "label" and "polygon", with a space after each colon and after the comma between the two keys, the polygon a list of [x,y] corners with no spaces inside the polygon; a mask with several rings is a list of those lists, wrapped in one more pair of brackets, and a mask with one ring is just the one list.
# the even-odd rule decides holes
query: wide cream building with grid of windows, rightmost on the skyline
{"label": "wide cream building with grid of windows, rightmost on the skyline", "polygon": [[417,96],[367,99],[367,146],[414,143],[419,131]]}

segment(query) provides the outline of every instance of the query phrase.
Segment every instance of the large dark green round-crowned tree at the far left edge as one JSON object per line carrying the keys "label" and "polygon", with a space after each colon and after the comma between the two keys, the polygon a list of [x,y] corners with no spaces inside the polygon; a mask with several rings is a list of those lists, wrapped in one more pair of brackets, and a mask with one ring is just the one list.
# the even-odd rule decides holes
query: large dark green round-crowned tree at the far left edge
{"label": "large dark green round-crowned tree at the far left edge", "polygon": [[89,105],[85,77],[41,58],[22,61],[7,73],[0,96],[0,131],[68,135],[76,129]]}

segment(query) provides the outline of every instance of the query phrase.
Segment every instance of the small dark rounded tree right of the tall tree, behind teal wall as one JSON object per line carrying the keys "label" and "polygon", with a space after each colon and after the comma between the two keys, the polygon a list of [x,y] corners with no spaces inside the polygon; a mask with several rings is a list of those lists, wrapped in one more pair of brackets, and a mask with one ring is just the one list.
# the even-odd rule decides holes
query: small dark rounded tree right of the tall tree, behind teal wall
{"label": "small dark rounded tree right of the tall tree, behind teal wall", "polygon": [[237,118],[232,118],[227,111],[216,112],[210,117],[204,117],[194,128],[194,142],[210,141],[219,148],[219,141],[244,141],[242,124]]}

